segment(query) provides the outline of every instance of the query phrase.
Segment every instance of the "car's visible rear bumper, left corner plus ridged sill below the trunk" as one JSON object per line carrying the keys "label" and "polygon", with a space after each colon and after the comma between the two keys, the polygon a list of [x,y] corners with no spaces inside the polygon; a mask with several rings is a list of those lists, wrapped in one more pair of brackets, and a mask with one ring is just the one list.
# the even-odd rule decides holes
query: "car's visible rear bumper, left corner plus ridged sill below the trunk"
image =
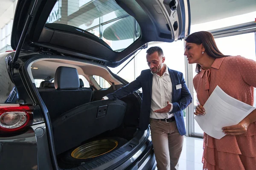
{"label": "car's visible rear bumper, left corner plus ridged sill below the trunk", "polygon": [[[16,136],[0,137],[1,170],[53,170],[45,124],[32,127]],[[145,131],[145,137],[146,133]],[[152,142],[147,137],[146,142],[125,162],[117,161],[112,168],[102,166],[95,169],[151,170],[155,166],[155,157]],[[128,156],[128,153],[131,152],[126,152],[125,155]]]}

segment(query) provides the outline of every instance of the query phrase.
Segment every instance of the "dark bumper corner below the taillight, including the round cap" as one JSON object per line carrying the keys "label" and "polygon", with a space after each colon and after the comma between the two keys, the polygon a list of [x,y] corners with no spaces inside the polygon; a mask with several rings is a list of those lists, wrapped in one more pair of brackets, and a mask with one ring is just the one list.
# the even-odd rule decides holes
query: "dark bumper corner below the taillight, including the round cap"
{"label": "dark bumper corner below the taillight, including the round cap", "polygon": [[0,136],[0,170],[52,170],[44,123],[16,136]]}

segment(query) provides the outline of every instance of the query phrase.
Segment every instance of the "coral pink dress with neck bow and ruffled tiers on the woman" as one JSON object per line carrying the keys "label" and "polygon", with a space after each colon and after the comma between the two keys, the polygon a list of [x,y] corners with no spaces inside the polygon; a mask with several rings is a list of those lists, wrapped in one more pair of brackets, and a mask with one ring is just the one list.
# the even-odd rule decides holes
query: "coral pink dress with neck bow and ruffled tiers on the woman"
{"label": "coral pink dress with neck bow and ruffled tiers on the woman", "polygon": [[[253,105],[256,62],[241,56],[215,59],[211,68],[195,76],[193,84],[201,105],[217,85],[233,98]],[[202,162],[204,170],[256,170],[256,122],[239,136],[215,139],[204,133]]]}

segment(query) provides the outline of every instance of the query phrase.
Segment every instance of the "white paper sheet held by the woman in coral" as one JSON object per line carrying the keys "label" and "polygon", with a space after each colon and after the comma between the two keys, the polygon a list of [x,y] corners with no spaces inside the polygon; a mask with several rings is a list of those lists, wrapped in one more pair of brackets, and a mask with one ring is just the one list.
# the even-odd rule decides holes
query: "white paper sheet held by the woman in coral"
{"label": "white paper sheet held by the woman in coral", "polygon": [[205,114],[195,116],[195,120],[209,136],[221,139],[225,136],[222,127],[237,125],[254,109],[217,86],[204,104]]}

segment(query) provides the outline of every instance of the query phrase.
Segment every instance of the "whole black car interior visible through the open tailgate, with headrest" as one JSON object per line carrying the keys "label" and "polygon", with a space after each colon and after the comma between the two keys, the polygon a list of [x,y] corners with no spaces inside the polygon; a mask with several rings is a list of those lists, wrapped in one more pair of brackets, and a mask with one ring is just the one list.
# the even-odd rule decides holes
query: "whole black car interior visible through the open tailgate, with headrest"
{"label": "whole black car interior visible through the open tailgate, with headrest", "polygon": [[[133,93],[115,101],[101,100],[123,86],[116,76],[101,65],[57,57],[41,58],[30,63],[28,73],[32,82],[39,78],[45,80],[37,89],[49,112],[60,167],[72,168],[95,159],[104,159],[105,155],[120,148],[131,150],[137,142],[129,142],[138,133],[144,132],[138,130],[141,104],[138,94]],[[78,74],[90,82],[90,88],[80,86]],[[92,79],[93,75],[104,78],[112,85],[99,88]],[[50,79],[54,79],[54,82],[50,82]],[[93,145],[93,151],[84,151],[84,156],[80,151],[73,153],[77,147],[99,140],[114,140],[117,144],[113,148],[108,148],[111,145],[108,142],[102,147]],[[86,159],[82,159],[84,157]]]}

